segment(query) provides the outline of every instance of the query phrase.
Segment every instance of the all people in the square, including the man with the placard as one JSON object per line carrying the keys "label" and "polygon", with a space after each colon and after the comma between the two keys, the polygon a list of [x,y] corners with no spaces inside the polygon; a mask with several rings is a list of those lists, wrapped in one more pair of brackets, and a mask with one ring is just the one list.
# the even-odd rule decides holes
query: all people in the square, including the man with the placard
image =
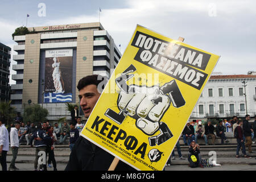
{"label": "all people in the square, including the man with the placard", "polygon": [[[86,76],[81,78],[77,89],[79,90],[79,98],[81,109],[84,112],[85,118],[89,118],[93,107],[96,105],[100,94],[97,86],[101,80],[97,79],[97,75]],[[59,128],[57,123],[54,127],[49,122],[35,123],[27,122],[25,125],[18,119],[13,125],[10,125],[8,129],[5,126],[5,118],[0,116],[0,159],[3,170],[7,170],[6,154],[9,151],[9,144],[13,152],[13,159],[11,160],[9,170],[18,170],[15,167],[15,159],[18,155],[18,148],[20,142],[25,138],[26,144],[36,148],[36,156],[34,168],[38,170],[39,153],[46,154],[44,159],[47,159],[48,155],[48,167],[53,164],[53,169],[57,170],[56,160],[54,155],[54,148],[57,142],[57,138],[60,138],[58,144],[63,144],[69,137],[69,147],[71,148],[71,154],[69,156],[68,164],[65,171],[80,171],[80,170],[107,170],[112,166],[114,156],[96,146],[94,143],[79,137],[82,130],[82,122],[79,116],[79,110],[75,107],[75,110],[71,112],[72,121],[68,126],[67,122],[63,123],[63,126]],[[20,117],[19,117],[20,119]],[[256,117],[255,117],[256,119]],[[198,122],[198,125],[191,125],[187,123],[185,126],[182,137],[184,144],[189,146],[188,161],[190,167],[203,167],[200,154],[200,146],[197,143],[199,138],[203,138],[205,144],[214,144],[216,135],[221,138],[221,144],[229,142],[226,138],[226,132],[233,132],[234,137],[237,139],[237,153],[236,158],[240,158],[239,151],[242,148],[242,153],[246,159],[250,156],[246,155],[245,147],[248,147],[249,153],[252,153],[251,143],[253,143],[253,137],[256,130],[256,121],[253,125],[249,123],[250,115],[246,115],[245,120],[237,119],[233,117],[232,121],[220,121],[218,125],[214,127],[212,122],[208,121],[205,125],[202,122]],[[216,130],[216,135],[214,133]],[[10,134],[9,134],[10,133]],[[10,143],[9,143],[10,138]],[[208,140],[212,139],[212,143],[208,143]],[[179,159],[185,158],[181,154],[180,143],[176,143],[176,147],[179,154]],[[175,159],[174,151],[172,151],[172,159]],[[168,160],[170,161],[170,159]],[[47,163],[40,163],[39,170],[46,171]],[[119,161],[115,166],[117,170],[134,170],[126,163]]]}

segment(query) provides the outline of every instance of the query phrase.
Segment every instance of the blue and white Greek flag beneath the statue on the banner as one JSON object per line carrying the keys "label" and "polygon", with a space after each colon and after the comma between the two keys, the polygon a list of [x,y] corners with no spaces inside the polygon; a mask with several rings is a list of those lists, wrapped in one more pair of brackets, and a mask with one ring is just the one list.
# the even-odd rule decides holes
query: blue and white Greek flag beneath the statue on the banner
{"label": "blue and white Greek flag beneath the statue on the banner", "polygon": [[72,102],[72,93],[44,93],[44,103]]}

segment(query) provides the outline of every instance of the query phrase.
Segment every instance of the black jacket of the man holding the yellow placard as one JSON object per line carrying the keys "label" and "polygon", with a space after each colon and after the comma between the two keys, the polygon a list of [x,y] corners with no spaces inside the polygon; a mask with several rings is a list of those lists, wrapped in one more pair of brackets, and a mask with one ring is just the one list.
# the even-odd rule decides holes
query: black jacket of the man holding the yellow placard
{"label": "black jacket of the man holding the yellow placard", "polygon": [[[65,171],[107,171],[113,159],[113,155],[80,136],[71,151]],[[115,170],[135,169],[120,160]]]}

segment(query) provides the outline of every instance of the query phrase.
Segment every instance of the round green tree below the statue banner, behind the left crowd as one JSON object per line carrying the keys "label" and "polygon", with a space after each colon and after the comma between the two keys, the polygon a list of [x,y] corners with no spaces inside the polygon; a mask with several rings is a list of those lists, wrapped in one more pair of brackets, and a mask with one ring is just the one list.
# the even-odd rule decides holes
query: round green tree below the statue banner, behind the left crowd
{"label": "round green tree below the statue banner, behind the left crowd", "polygon": [[29,105],[24,109],[23,121],[39,123],[47,120],[48,110],[39,104]]}

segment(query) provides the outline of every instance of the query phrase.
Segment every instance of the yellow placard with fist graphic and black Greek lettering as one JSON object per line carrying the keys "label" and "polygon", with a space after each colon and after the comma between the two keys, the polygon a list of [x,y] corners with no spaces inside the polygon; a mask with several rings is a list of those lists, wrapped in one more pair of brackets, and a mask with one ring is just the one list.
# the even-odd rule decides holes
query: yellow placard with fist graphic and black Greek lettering
{"label": "yellow placard with fist graphic and black Greek lettering", "polygon": [[218,59],[137,26],[81,135],[135,169],[162,170]]}

